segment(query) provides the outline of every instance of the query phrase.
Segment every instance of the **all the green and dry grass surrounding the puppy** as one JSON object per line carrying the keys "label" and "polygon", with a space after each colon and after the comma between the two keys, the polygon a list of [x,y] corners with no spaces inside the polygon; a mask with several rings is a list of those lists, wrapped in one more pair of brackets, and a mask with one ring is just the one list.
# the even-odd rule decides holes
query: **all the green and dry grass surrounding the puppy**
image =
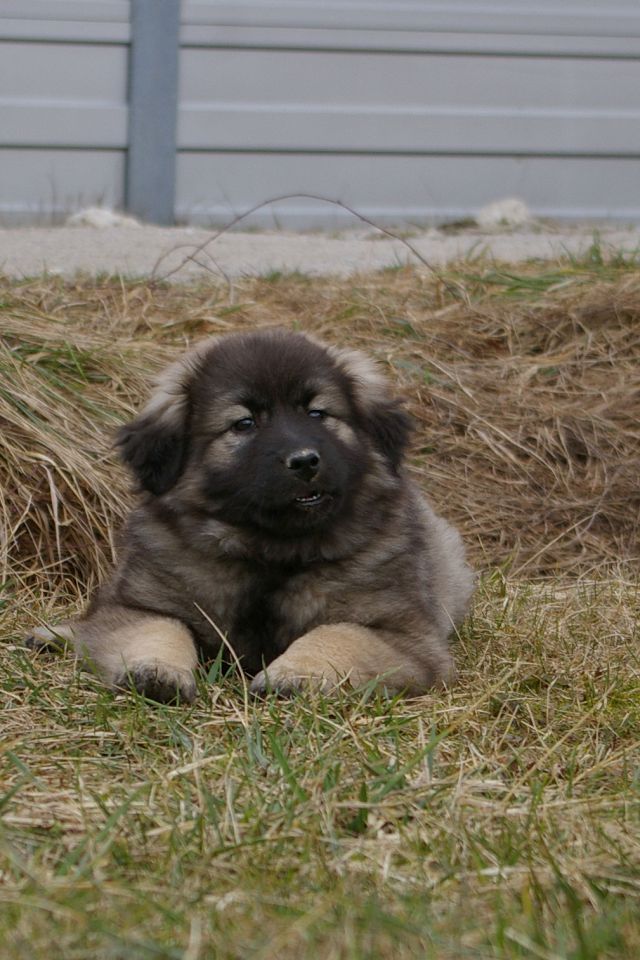
{"label": "all the green and dry grass surrounding the puppy", "polygon": [[[640,955],[637,269],[446,279],[2,284],[3,958]],[[171,708],[27,653],[111,562],[110,431],[149,372],[275,321],[409,396],[482,574],[456,684],[254,701],[213,664]]]}

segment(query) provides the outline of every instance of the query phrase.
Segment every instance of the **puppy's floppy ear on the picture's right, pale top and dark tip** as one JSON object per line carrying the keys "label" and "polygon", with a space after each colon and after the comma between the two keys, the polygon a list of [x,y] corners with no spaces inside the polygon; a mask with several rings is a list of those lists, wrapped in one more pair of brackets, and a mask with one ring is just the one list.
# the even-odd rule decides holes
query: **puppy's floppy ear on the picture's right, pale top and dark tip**
{"label": "puppy's floppy ear on the picture's right, pale top and dark tip", "polygon": [[373,360],[359,350],[333,347],[330,352],[353,384],[367,433],[397,471],[409,445],[411,417],[402,409],[401,401],[392,396],[389,383]]}

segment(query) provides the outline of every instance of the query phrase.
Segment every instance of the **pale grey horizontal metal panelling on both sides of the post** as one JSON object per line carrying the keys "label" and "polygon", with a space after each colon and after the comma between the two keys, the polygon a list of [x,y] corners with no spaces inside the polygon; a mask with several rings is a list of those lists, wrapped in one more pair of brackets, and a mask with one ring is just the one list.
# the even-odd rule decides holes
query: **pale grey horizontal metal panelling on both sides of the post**
{"label": "pale grey horizontal metal panelling on both sides of the post", "polygon": [[[128,0],[0,0],[0,222],[125,203]],[[185,0],[176,215],[640,218],[640,0]],[[339,225],[309,199],[253,223]]]}

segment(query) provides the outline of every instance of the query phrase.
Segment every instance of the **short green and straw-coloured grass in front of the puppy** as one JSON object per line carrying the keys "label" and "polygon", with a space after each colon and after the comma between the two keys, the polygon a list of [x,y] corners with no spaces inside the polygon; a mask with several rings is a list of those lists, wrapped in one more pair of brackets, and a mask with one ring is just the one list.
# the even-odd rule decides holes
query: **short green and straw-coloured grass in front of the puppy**
{"label": "short green and straw-coloured grass in front of the puppy", "polygon": [[12,960],[635,960],[637,585],[487,582],[459,682],[192,708],[0,659]]}

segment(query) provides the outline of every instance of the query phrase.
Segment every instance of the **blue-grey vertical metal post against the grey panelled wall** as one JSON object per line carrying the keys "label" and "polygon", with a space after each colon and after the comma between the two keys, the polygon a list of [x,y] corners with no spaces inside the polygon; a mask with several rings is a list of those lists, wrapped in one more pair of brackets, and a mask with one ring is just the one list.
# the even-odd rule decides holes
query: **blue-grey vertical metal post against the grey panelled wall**
{"label": "blue-grey vertical metal post against the grey panelled wall", "polygon": [[126,206],[174,222],[180,0],[131,0]]}

